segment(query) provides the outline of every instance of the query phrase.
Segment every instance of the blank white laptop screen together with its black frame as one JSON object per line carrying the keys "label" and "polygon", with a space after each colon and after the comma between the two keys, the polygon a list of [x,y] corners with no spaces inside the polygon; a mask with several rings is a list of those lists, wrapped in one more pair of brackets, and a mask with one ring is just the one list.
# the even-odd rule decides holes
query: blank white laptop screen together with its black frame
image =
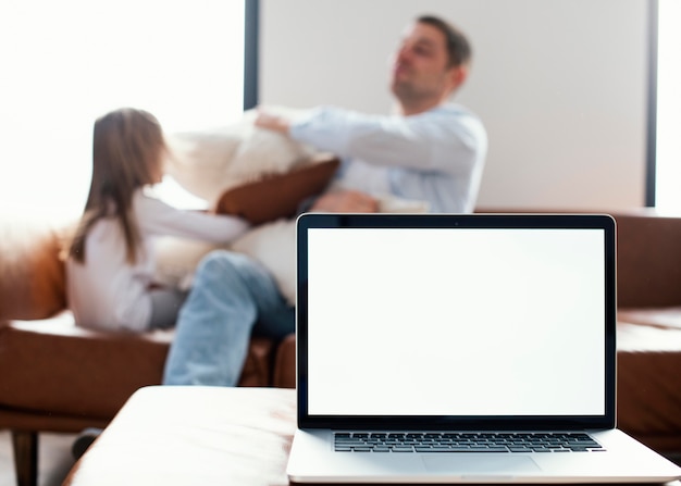
{"label": "blank white laptop screen together with its black frame", "polygon": [[307,416],[512,421],[611,412],[611,219],[300,222]]}

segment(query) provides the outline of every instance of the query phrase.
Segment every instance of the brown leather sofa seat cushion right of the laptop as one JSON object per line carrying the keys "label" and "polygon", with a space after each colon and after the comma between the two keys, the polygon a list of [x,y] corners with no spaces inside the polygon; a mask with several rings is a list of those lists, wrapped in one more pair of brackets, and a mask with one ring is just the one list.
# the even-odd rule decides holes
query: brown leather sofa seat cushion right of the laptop
{"label": "brown leather sofa seat cushion right of the laptop", "polygon": [[681,450],[681,328],[619,313],[618,426],[658,451]]}

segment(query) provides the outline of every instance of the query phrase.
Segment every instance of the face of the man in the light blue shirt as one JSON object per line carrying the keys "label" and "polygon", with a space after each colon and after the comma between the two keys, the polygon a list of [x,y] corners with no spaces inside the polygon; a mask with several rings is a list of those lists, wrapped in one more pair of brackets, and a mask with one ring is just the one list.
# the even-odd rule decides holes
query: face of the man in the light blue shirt
{"label": "face of the man in the light blue shirt", "polygon": [[403,103],[435,100],[456,87],[448,67],[445,36],[437,28],[421,23],[411,25],[393,60],[391,89]]}

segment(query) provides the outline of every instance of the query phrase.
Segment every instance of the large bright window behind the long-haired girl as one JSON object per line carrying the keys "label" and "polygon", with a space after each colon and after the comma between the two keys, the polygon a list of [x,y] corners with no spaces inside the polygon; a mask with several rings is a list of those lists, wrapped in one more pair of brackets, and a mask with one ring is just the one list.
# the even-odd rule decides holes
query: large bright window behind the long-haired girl
{"label": "large bright window behind the long-haired girl", "polygon": [[112,109],[148,110],[168,132],[234,122],[247,2],[2,2],[0,212],[79,215],[92,124]]}

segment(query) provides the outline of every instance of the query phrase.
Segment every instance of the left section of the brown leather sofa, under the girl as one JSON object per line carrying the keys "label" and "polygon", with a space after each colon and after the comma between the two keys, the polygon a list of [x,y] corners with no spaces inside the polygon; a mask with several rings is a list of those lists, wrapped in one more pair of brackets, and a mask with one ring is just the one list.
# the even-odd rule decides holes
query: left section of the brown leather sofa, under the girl
{"label": "left section of the brown leather sofa, under the girl", "polygon": [[[65,226],[0,222],[0,428],[20,485],[35,485],[38,433],[104,427],[136,389],[160,384],[172,331],[76,327],[59,258]],[[272,386],[275,344],[251,339],[240,386]]]}

